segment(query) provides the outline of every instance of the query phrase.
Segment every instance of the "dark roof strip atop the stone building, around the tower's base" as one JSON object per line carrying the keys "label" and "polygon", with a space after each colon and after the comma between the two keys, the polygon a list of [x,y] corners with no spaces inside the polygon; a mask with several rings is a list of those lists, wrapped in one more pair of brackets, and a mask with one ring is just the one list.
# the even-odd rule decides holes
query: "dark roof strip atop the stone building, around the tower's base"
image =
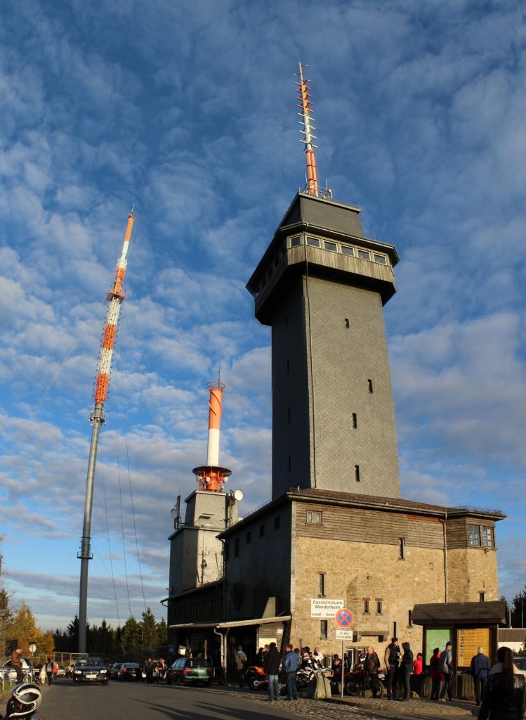
{"label": "dark roof strip atop the stone building, around the tower's base", "polygon": [[352,508],[366,508],[368,510],[389,510],[397,513],[414,513],[415,515],[430,515],[443,518],[481,518],[484,520],[504,520],[506,517],[501,510],[484,510],[484,508],[448,508],[445,505],[430,505],[417,503],[414,500],[402,498],[381,498],[377,495],[357,495],[353,492],[337,492],[337,490],[317,490],[315,488],[289,488],[289,492],[278,495],[252,513],[242,518],[227,530],[219,533],[217,537],[223,539],[240,530],[240,528],[253,523],[258,516],[265,515],[271,508],[287,502],[317,503],[321,505],[347,505]]}

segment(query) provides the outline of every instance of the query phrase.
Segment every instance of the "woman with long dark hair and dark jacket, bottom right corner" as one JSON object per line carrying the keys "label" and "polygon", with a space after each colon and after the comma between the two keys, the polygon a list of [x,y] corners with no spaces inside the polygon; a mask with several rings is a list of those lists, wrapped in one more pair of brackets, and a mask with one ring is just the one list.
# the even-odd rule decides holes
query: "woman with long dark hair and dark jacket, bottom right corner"
{"label": "woman with long dark hair and dark jacket, bottom right corner", "polygon": [[519,720],[525,710],[525,677],[514,675],[512,650],[499,647],[484,690],[479,720]]}

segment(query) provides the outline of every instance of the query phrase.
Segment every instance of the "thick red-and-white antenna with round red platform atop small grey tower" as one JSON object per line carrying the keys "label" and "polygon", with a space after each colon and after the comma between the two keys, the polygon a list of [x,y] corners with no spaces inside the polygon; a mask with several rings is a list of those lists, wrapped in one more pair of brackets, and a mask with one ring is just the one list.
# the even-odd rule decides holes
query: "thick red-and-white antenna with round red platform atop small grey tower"
{"label": "thick red-and-white antenna with round red platform atop small grey tower", "polygon": [[209,382],[210,398],[208,401],[208,449],[207,464],[194,467],[192,472],[196,476],[199,490],[209,492],[222,492],[223,484],[227,482],[232,470],[219,465],[219,436],[221,433],[221,415],[223,409],[223,390],[225,385],[217,378],[216,382]]}

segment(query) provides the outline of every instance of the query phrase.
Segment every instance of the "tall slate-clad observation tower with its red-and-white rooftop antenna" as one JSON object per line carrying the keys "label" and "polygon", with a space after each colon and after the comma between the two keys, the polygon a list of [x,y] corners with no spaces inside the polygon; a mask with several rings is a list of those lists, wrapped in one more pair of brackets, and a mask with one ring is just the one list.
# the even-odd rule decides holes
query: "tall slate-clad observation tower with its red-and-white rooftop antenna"
{"label": "tall slate-clad observation tower with its red-and-white rooftop antenna", "polygon": [[363,235],[360,209],[317,183],[309,86],[298,99],[307,186],[248,282],[272,327],[272,495],[289,487],[399,498],[382,307],[396,248]]}

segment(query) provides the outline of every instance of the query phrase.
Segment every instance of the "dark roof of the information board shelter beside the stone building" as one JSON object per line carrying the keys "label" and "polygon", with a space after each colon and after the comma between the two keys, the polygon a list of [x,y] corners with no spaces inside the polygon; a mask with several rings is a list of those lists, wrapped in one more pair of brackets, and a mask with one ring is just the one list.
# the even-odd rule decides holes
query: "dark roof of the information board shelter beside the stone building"
{"label": "dark roof of the information board shelter beside the stone building", "polygon": [[491,603],[429,603],[415,605],[411,620],[415,625],[496,625],[506,622],[506,601]]}

